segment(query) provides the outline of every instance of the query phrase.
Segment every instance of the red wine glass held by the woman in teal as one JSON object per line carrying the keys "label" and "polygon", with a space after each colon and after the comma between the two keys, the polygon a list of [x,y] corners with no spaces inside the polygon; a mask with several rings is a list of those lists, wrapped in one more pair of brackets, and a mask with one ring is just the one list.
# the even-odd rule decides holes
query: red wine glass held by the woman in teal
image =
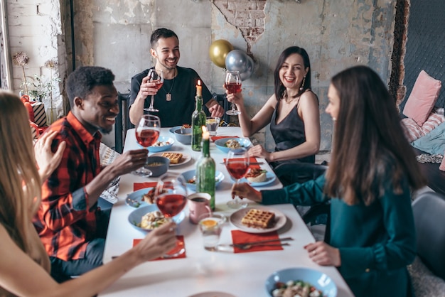
{"label": "red wine glass held by the woman in teal", "polygon": [[[225,168],[235,179],[235,185],[238,183],[238,180],[244,178],[249,171],[249,161],[250,157],[247,153],[247,148],[235,148],[230,150],[227,153],[227,158],[225,158]],[[235,199],[227,202],[227,206],[230,208],[242,208],[247,206],[247,202],[243,202],[241,198],[238,196]]]}

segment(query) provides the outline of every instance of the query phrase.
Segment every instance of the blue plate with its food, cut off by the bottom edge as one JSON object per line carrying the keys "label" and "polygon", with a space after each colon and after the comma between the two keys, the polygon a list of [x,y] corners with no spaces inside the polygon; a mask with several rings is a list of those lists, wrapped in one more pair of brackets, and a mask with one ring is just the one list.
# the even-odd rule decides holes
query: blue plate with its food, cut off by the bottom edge
{"label": "blue plate with its food, cut off by the bottom edge", "polygon": [[[305,267],[275,271],[266,279],[269,296],[336,297],[337,286],[327,274]],[[307,293],[303,293],[307,292]]]}

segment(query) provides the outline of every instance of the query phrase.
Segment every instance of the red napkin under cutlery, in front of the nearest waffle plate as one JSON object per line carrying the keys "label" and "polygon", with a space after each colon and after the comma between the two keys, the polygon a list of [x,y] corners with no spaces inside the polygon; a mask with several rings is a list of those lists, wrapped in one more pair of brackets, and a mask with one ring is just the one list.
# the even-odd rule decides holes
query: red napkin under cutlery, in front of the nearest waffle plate
{"label": "red napkin under cutlery, in front of the nearest waffle plate", "polygon": [[[278,239],[277,232],[269,232],[262,234],[252,234],[242,232],[240,230],[232,230],[232,242],[234,244],[243,244],[245,242],[257,242],[259,240],[269,240],[269,239]],[[279,244],[279,240],[277,242],[267,242],[264,244]],[[248,253],[248,252],[261,252],[261,251],[279,251],[282,250],[283,247],[267,247],[267,246],[252,246],[250,249],[238,249],[237,247],[233,247],[233,252],[237,253]]]}

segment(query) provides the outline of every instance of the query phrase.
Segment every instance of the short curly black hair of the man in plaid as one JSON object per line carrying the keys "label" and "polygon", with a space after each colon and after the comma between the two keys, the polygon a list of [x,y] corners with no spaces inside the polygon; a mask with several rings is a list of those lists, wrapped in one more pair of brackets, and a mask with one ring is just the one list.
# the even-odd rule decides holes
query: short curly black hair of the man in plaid
{"label": "short curly black hair of the man in plaid", "polygon": [[114,74],[111,70],[98,66],[82,66],[68,76],[66,89],[70,107],[74,107],[74,98],[85,99],[98,85],[113,85]]}

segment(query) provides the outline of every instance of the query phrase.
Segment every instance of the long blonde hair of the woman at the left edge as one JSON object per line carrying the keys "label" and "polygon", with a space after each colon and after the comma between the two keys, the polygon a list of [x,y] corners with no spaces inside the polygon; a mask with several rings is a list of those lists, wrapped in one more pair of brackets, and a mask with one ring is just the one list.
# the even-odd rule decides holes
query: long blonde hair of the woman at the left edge
{"label": "long blonde hair of the woman at the left edge", "polygon": [[41,202],[41,179],[26,107],[16,95],[4,91],[0,91],[0,106],[0,223],[28,253],[28,226]]}

